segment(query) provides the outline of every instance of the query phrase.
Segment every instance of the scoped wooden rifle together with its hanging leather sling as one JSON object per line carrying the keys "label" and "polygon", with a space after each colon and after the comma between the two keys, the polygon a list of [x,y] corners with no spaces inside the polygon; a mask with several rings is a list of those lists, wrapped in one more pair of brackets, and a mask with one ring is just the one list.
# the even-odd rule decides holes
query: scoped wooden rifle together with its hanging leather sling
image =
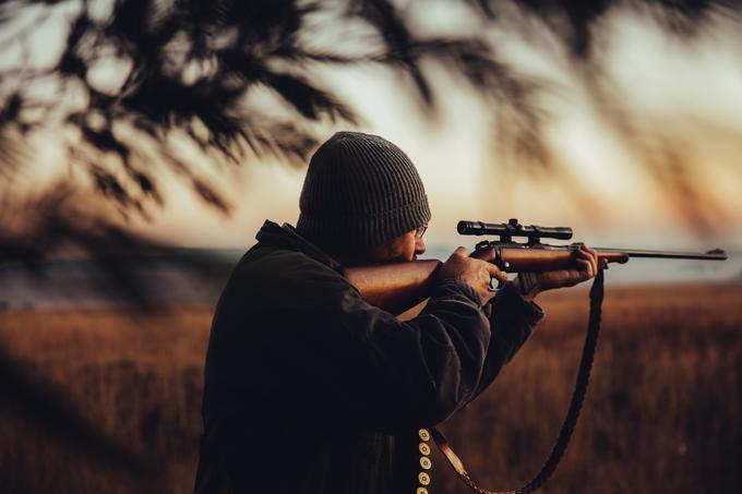
{"label": "scoped wooden rifle together with its hanging leather sling", "polygon": [[[553,269],[564,269],[571,267],[574,258],[574,251],[579,248],[579,243],[569,245],[549,245],[541,243],[541,239],[572,239],[572,229],[566,227],[538,227],[523,226],[517,219],[511,219],[506,224],[487,224],[482,221],[459,221],[457,230],[460,234],[472,236],[496,236],[498,240],[481,241],[477,243],[471,257],[481,258],[495,264],[501,270],[506,273],[546,272]],[[526,238],[526,242],[515,242],[513,237]],[[727,254],[720,249],[715,249],[706,253],[695,252],[672,252],[672,251],[646,251],[634,249],[610,249],[597,248],[599,266],[603,263],[626,263],[632,257],[649,258],[686,258],[702,261],[725,261]],[[363,299],[376,306],[387,310],[394,314],[399,314],[428,298],[428,293],[435,285],[440,261],[411,261],[406,263],[395,263],[366,267],[347,267],[345,274],[361,293]],[[493,287],[492,287],[493,288]],[[579,371],[572,395],[570,408],[562,422],[554,446],[549,457],[543,462],[539,472],[523,487],[515,491],[493,492],[478,486],[469,473],[464,468],[464,463],[453,451],[446,438],[435,427],[431,427],[432,438],[447,459],[448,463],[456,471],[462,481],[478,494],[529,494],[541,487],[556,469],[570,437],[577,423],[582,403],[587,390],[587,383],[593,366],[593,358],[598,341],[600,330],[600,312],[603,297],[603,273],[598,269],[593,288],[590,289],[590,315],[585,346],[579,363]],[[431,434],[428,430],[420,431],[420,438],[424,442]],[[421,449],[422,451],[422,449]],[[423,457],[423,459],[426,459]],[[428,463],[429,465],[429,463]],[[429,468],[429,467],[423,467]],[[424,482],[418,492],[428,492],[427,485],[429,478],[424,473]]]}

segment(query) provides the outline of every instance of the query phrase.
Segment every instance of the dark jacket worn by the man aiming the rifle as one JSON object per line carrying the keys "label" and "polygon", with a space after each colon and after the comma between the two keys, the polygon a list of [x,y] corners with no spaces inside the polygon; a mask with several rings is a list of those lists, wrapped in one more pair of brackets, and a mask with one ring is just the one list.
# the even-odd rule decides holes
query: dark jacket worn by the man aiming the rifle
{"label": "dark jacket worn by the man aiming the rifle", "polygon": [[256,238],[214,316],[198,494],[414,493],[417,431],[481,393],[541,311],[443,280],[403,323],[290,226]]}

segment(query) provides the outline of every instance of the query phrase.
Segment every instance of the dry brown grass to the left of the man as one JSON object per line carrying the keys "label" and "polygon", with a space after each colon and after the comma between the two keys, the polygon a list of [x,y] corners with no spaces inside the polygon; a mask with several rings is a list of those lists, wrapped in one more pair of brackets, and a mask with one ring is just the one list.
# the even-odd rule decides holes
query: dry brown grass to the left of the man
{"label": "dry brown grass to the left of the man", "polygon": [[[45,389],[154,461],[167,491],[193,487],[211,308],[0,312],[0,342]],[[3,492],[140,492],[137,479],[38,430],[0,405]]]}

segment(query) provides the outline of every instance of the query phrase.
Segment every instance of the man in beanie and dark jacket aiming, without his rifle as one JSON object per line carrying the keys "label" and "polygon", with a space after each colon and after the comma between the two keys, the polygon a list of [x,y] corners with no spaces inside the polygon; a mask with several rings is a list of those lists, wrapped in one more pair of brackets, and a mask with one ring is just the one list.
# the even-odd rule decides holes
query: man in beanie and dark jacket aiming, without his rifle
{"label": "man in beanie and dark jacket aiming, without his rifle", "polygon": [[403,323],[366,303],[343,267],[424,252],[431,215],[409,158],[337,133],[312,157],[299,205],[296,229],[265,222],[217,305],[196,492],[427,492],[424,427],[494,379],[542,317],[540,290],[591,278],[597,256],[583,249],[573,269],[492,297],[505,274],[459,248]]}

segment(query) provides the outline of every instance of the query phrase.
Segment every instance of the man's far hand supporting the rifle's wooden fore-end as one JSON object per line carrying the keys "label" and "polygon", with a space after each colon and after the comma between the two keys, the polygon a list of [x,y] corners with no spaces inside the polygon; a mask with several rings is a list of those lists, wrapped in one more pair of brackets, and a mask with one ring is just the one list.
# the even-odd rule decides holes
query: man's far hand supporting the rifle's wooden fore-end
{"label": "man's far hand supporting the rifle's wooden fore-end", "polygon": [[520,273],[513,281],[524,299],[530,301],[538,293],[554,288],[573,287],[594,278],[598,263],[606,267],[605,260],[598,261],[598,253],[587,245],[574,251],[574,267],[543,273]]}

